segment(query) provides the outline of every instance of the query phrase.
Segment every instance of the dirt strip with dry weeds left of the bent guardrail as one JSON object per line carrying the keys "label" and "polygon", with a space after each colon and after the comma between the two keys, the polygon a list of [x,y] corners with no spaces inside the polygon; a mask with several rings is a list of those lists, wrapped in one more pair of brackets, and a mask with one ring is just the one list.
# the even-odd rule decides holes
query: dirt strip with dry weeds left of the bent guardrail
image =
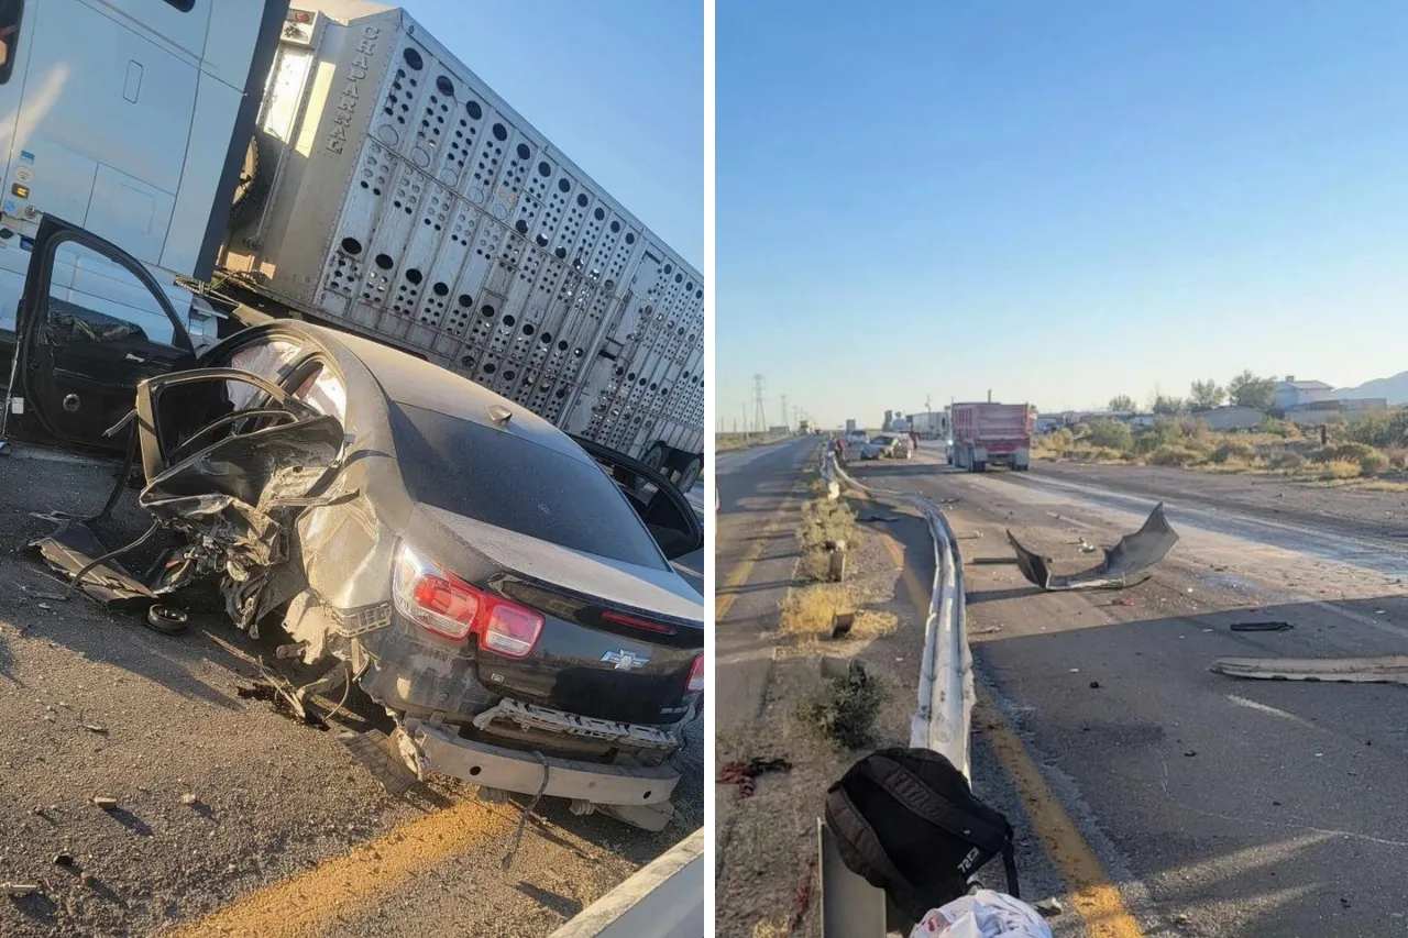
{"label": "dirt strip with dry weeds left of the bent guardrail", "polygon": [[[863,755],[824,742],[798,720],[797,708],[824,683],[822,658],[860,658],[879,676],[888,697],[874,727],[874,746],[905,745],[914,687],[924,646],[924,610],[915,610],[900,582],[904,549],[887,528],[922,525],[908,508],[853,503],[862,517],[881,514],[890,523],[862,523],[852,546],[848,580],[857,607],[891,614],[895,630],[859,641],[791,641],[777,634],[773,679],[762,718],[718,739],[717,765],[734,759],[786,758],[791,769],[758,777],[750,797],[717,786],[719,844],[717,934],[721,938],[780,938],[821,934],[819,894],[812,858],[817,856],[817,818],[826,787]],[[784,593],[779,594],[781,601]],[[777,628],[776,617],[772,628]],[[727,821],[725,821],[727,818]],[[788,931],[794,915],[800,924]]]}

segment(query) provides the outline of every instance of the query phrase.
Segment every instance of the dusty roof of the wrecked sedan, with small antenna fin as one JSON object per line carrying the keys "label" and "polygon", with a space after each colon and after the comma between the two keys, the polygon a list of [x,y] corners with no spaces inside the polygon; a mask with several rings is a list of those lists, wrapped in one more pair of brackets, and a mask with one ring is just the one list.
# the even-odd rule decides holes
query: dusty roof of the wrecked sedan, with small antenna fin
{"label": "dusty roof of the wrecked sedan, with small antenna fin", "polygon": [[[341,345],[360,361],[386,396],[397,404],[432,410],[446,417],[501,430],[582,462],[593,462],[582,446],[549,421],[463,375],[360,335],[308,323],[300,325],[313,332],[320,342]],[[489,408],[494,404],[508,408],[513,414],[507,427],[489,415]]]}

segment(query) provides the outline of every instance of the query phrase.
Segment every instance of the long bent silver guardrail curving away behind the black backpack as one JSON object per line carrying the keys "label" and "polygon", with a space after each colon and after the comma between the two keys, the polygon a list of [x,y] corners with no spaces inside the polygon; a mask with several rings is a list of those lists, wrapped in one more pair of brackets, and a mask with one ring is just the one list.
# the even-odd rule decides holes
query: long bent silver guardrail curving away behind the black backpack
{"label": "long bent silver guardrail curving away behind the black backpack", "polygon": [[[922,496],[856,482],[836,463],[829,449],[822,456],[821,477],[828,492],[845,484],[866,494],[907,500],[929,524],[934,587],[924,621],[924,659],[919,662],[917,706],[910,720],[910,745],[943,753],[972,782],[973,655],[967,644],[963,558],[953,528],[943,510]],[[819,818],[817,832],[822,938],[881,938],[888,918],[884,893],[845,866],[831,831]]]}

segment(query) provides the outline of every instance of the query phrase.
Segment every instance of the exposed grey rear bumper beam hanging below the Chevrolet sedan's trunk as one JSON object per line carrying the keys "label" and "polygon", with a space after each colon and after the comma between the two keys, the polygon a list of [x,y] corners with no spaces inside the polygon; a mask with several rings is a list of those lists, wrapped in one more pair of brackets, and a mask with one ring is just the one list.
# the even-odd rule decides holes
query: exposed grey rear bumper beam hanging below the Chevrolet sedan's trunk
{"label": "exposed grey rear bumper beam hanging below the Chevrolet sedan's trunk", "polygon": [[662,804],[670,800],[680,773],[666,765],[631,768],[536,756],[504,746],[465,739],[451,730],[406,721],[406,739],[424,770],[505,792],[576,799],[594,804]]}

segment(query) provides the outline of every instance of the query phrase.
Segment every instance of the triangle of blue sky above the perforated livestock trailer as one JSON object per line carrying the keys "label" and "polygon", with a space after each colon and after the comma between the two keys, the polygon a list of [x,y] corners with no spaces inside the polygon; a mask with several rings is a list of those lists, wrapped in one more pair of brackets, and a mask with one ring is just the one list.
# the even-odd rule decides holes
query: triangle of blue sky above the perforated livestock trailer
{"label": "triangle of blue sky above the perforated livestock trailer", "polygon": [[401,6],[703,270],[701,3],[401,0]]}

